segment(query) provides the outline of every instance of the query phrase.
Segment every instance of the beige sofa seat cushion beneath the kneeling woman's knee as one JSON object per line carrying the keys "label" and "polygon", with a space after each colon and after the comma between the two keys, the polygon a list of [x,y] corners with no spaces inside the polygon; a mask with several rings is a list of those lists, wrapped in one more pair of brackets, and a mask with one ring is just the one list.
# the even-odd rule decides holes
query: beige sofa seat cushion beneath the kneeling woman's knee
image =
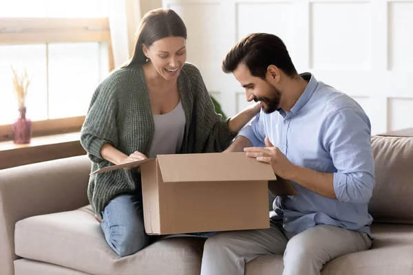
{"label": "beige sofa seat cushion beneath the kneeling woman's knee", "polygon": [[162,239],[120,258],[107,245],[90,206],[23,219],[16,224],[16,254],[90,274],[200,274],[203,238]]}

